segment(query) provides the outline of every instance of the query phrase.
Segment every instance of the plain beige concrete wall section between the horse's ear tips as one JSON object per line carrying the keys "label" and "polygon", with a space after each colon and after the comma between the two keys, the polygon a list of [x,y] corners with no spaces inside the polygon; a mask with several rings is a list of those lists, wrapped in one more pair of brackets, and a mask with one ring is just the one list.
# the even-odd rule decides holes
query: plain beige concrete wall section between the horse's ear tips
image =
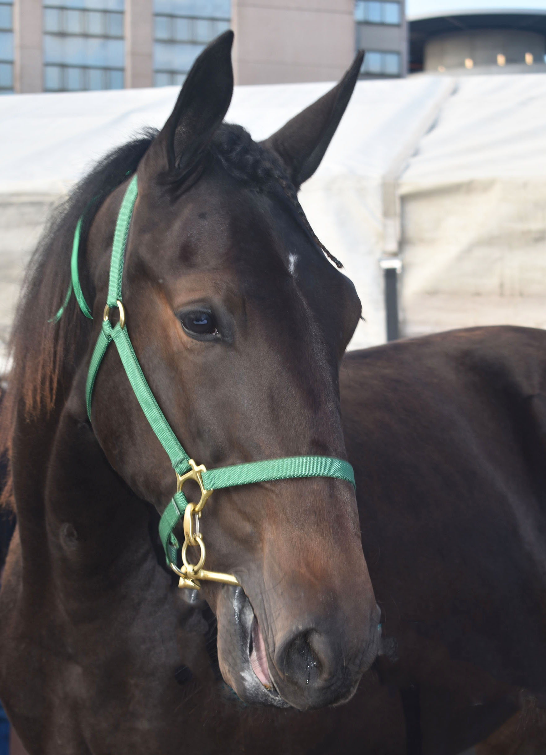
{"label": "plain beige concrete wall section between the horse's ear tips", "polygon": [[236,84],[336,81],[354,57],[353,0],[232,0]]}

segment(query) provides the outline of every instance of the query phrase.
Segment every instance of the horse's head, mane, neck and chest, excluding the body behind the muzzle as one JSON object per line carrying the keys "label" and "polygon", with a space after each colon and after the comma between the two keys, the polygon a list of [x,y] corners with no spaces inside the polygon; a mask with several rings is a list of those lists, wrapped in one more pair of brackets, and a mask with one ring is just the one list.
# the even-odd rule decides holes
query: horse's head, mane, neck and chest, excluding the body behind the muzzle
{"label": "horse's head, mane, neck and chest, excluding the body behind the muzzle", "polygon": [[[0,601],[0,696],[31,753],[175,749],[167,720],[178,715],[189,609],[156,541],[176,479],[115,350],[90,421],[85,401],[135,174],[124,326],[177,438],[209,468],[345,458],[339,363],[360,301],[296,190],[330,143],[361,55],[257,144],[222,123],[232,37],[204,50],[158,134],[122,146],[76,188],[20,300],[3,416],[17,532]],[[79,217],[78,279],[93,319],[72,296],[55,322]],[[216,490],[201,526],[208,568],[241,585],[201,583],[239,698],[301,710],[350,698],[379,648],[352,486],[314,476]]]}

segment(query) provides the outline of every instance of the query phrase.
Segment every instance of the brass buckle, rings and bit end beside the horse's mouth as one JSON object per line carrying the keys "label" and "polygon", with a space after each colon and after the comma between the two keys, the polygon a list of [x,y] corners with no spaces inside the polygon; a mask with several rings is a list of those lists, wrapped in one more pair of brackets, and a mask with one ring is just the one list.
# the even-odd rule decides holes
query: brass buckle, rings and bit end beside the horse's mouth
{"label": "brass buckle, rings and bit end beside the horse's mouth", "polygon": [[[182,490],[186,480],[193,479],[199,485],[201,498],[199,499],[198,504],[188,503],[186,511],[184,512],[184,544],[182,546],[183,566],[178,569],[176,565],[171,563],[170,568],[175,574],[179,575],[180,580],[178,587],[189,587],[191,590],[201,590],[201,584],[198,582],[200,579],[211,582],[223,582],[238,587],[239,581],[234,575],[223,574],[222,572],[207,572],[207,569],[203,569],[207,551],[205,549],[203,535],[201,535],[199,530],[199,519],[201,519],[201,511],[203,510],[204,504],[207,503],[207,499],[213,491],[205,490],[203,479],[201,478],[202,473],[207,471],[207,467],[204,467],[204,464],[199,464],[198,466],[193,459],[189,459],[188,464],[192,467],[189,472],[186,472],[186,474],[183,475],[179,475],[179,473],[176,472],[176,492],[179,493]],[[188,561],[187,552],[190,545],[198,546],[200,550],[199,560],[196,564],[189,563]]]}

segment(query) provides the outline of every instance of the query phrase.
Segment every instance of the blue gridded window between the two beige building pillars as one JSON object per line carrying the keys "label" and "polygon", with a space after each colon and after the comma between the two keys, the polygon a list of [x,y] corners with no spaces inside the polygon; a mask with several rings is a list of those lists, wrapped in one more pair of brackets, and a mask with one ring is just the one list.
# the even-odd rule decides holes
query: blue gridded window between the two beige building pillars
{"label": "blue gridded window between the two beige building pillars", "polygon": [[44,0],[44,90],[122,89],[124,0]]}

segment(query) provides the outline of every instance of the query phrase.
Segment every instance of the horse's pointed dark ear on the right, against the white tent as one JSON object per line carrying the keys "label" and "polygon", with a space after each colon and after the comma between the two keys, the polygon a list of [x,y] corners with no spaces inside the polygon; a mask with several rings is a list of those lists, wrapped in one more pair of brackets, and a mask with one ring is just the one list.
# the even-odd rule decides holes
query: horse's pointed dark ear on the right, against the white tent
{"label": "horse's pointed dark ear on the right, against the white tent", "polygon": [[337,86],[261,142],[281,158],[296,188],[314,174],[323,159],[351,99],[363,59],[360,51]]}

